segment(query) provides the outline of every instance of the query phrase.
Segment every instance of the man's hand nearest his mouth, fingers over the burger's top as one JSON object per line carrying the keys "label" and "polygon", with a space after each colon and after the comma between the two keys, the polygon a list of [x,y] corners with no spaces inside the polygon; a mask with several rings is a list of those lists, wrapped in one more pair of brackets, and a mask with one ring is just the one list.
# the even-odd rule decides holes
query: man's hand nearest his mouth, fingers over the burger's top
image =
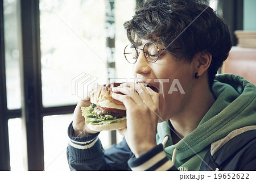
{"label": "man's hand nearest his mouth, fingers over the burger's top", "polygon": [[114,92],[122,93],[114,93],[112,97],[123,102],[126,107],[127,128],[118,132],[125,136],[135,157],[139,157],[156,146],[159,94],[132,82],[115,87]]}

